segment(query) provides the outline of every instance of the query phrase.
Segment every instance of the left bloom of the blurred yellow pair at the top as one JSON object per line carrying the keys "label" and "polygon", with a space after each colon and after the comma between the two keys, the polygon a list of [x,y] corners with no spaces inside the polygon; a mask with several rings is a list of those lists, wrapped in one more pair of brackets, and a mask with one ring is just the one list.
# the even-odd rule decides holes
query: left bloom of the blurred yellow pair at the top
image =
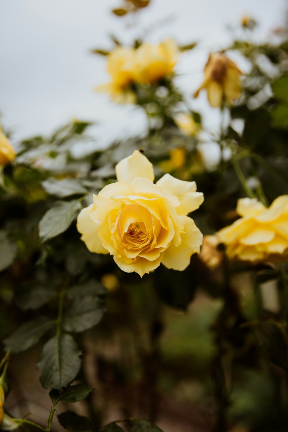
{"label": "left bloom of the blurred yellow pair at the top", "polygon": [[130,84],[134,82],[135,67],[135,50],[133,48],[115,48],[108,54],[106,65],[112,81],[95,87],[95,90],[109,93],[114,102],[135,102],[135,93],[130,89]]}

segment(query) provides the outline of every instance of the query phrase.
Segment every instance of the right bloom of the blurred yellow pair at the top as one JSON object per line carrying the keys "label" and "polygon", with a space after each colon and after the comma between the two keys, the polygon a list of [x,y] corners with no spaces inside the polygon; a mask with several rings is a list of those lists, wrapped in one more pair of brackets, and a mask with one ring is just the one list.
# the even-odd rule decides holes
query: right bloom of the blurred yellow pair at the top
{"label": "right bloom of the blurred yellow pair at the top", "polygon": [[179,48],[170,38],[158,45],[144,43],[135,51],[136,76],[140,84],[152,84],[173,72]]}

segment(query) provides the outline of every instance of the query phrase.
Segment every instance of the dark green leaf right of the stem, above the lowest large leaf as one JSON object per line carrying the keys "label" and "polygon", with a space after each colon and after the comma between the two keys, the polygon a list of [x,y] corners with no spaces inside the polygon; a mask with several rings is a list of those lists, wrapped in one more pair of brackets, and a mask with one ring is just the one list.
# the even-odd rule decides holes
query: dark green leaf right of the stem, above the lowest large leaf
{"label": "dark green leaf right of the stem, above the lowest large leaf", "polygon": [[76,298],[63,316],[63,329],[66,331],[83,331],[93,327],[103,317],[103,303],[96,297]]}

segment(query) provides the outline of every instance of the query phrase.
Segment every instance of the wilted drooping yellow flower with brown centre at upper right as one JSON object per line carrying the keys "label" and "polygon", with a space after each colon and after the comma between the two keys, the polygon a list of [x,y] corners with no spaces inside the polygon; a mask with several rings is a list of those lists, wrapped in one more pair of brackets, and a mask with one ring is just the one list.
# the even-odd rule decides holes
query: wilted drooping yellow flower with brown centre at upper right
{"label": "wilted drooping yellow flower with brown centre at upper right", "polygon": [[232,105],[241,93],[241,70],[224,53],[210,54],[204,69],[204,80],[194,93],[197,98],[200,90],[207,90],[209,104],[212,107],[221,107],[225,102]]}

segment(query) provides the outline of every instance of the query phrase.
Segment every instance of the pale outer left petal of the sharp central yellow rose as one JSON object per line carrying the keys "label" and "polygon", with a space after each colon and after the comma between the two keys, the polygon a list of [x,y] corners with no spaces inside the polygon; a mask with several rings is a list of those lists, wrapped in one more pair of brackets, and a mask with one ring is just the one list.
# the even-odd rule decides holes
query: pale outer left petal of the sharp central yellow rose
{"label": "pale outer left petal of the sharp central yellow rose", "polygon": [[99,225],[95,223],[89,216],[89,212],[92,207],[93,204],[81,210],[77,218],[77,229],[80,234],[82,234],[81,240],[84,241],[90,252],[96,252],[97,254],[108,254],[108,251],[103,248],[101,240],[98,236]]}

